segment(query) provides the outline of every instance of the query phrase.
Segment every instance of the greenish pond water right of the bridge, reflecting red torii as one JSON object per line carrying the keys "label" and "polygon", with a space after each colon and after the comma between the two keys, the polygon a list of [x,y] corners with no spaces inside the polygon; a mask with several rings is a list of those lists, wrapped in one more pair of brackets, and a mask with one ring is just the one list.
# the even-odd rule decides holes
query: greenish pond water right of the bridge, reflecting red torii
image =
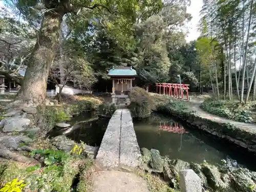
{"label": "greenish pond water right of the bridge, reflecting red torii", "polygon": [[140,147],[155,148],[162,156],[187,162],[219,164],[225,159],[232,166],[256,169],[254,155],[238,147],[221,142],[200,130],[195,130],[170,117],[153,114],[150,118],[134,120],[134,129]]}

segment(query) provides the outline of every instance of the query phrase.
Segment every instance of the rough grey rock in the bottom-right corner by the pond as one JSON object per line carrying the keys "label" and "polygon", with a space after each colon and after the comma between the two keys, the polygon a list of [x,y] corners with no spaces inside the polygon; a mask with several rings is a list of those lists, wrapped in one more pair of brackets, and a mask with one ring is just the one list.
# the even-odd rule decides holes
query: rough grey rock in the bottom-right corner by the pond
{"label": "rough grey rock in the bottom-right corner by the pond", "polygon": [[240,192],[252,191],[250,187],[255,186],[252,180],[255,174],[246,168],[238,168],[230,174],[232,188]]}

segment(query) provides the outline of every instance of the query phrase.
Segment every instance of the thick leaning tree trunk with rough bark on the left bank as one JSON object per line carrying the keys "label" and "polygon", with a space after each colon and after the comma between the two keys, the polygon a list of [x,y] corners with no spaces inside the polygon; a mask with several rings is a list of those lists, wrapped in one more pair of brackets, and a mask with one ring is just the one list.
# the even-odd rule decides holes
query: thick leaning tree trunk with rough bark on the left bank
{"label": "thick leaning tree trunk with rough bark on the left bank", "polygon": [[[53,6],[56,7],[56,5],[46,5],[49,9],[53,9]],[[42,20],[22,88],[18,93],[18,99],[27,105],[45,104],[47,81],[58,46],[62,17],[62,13],[48,11]]]}

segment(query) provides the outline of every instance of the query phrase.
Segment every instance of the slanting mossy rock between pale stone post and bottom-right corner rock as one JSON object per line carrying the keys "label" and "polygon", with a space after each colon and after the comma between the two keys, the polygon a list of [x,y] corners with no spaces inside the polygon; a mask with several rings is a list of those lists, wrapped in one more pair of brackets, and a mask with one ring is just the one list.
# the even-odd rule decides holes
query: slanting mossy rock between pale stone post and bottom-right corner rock
{"label": "slanting mossy rock between pale stone post and bottom-right corner rock", "polygon": [[224,190],[229,183],[224,183],[221,179],[219,169],[214,165],[204,164],[202,171],[208,181],[209,186],[214,190]]}

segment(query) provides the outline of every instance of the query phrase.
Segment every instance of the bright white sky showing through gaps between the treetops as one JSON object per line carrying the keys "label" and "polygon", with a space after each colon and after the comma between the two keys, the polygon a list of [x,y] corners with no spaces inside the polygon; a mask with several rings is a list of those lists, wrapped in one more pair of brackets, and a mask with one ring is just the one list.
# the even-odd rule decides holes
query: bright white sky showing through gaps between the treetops
{"label": "bright white sky showing through gaps between the treetops", "polygon": [[[187,12],[192,15],[191,21],[186,24],[186,28],[188,29],[188,34],[186,37],[186,41],[189,42],[191,40],[196,40],[200,32],[197,31],[197,24],[200,20],[200,10],[203,5],[203,0],[191,0],[191,5],[187,7]],[[2,0],[0,0],[0,7],[4,7],[4,3]]]}

